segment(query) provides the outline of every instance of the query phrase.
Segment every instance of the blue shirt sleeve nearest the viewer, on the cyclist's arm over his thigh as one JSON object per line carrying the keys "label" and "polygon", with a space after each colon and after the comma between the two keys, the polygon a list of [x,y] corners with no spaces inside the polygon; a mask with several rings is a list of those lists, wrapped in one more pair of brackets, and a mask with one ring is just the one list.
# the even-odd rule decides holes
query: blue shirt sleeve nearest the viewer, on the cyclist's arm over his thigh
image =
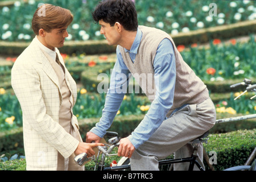
{"label": "blue shirt sleeve nearest the viewer, on the cyclist's arm over his thigh", "polygon": [[155,85],[157,92],[145,118],[128,137],[135,148],[148,140],[158,129],[173,105],[176,67],[173,44],[163,39],[154,60]]}

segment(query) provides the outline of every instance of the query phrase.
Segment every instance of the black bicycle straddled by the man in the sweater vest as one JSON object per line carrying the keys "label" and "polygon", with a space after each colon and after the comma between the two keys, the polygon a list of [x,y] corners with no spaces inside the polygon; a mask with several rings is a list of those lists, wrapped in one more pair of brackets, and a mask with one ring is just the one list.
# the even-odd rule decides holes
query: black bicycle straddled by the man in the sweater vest
{"label": "black bicycle straddled by the man in the sweater vest", "polygon": [[[95,167],[94,171],[122,171],[125,169],[131,169],[130,166],[130,159],[123,157],[119,162],[117,163],[117,166],[110,166],[105,167],[105,159],[107,156],[113,156],[117,154],[111,154],[111,152],[114,150],[114,148],[119,146],[119,140],[121,139],[118,137],[118,133],[115,133],[113,131],[107,131],[106,135],[115,135],[115,137],[112,137],[109,139],[109,144],[105,144],[105,146],[98,146],[98,155],[97,157],[87,157],[87,154],[84,152],[82,154],[79,154],[75,156],[74,160],[77,164],[80,166],[83,166],[86,162],[89,160],[95,161]],[[197,162],[197,150],[199,143],[207,143],[207,138],[209,135],[209,131],[207,131],[205,134],[199,136],[198,138],[195,138],[194,140],[191,140],[189,142],[193,146],[193,154],[189,158],[182,158],[182,159],[163,159],[159,160],[159,166],[163,165],[171,165],[174,163],[185,163],[189,162],[189,170],[193,171],[194,166],[197,166],[200,171],[205,171],[205,169]],[[101,157],[100,157],[101,156]]]}

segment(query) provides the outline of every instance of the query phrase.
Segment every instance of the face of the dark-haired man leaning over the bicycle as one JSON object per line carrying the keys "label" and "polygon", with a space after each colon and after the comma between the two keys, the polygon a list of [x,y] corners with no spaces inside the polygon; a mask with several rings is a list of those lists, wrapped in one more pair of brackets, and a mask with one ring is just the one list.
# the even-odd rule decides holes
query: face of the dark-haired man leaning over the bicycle
{"label": "face of the dark-haired man leaning over the bicycle", "polygon": [[121,35],[117,31],[116,25],[110,26],[109,23],[99,20],[99,25],[101,26],[101,34],[103,34],[109,43],[109,45],[118,45]]}

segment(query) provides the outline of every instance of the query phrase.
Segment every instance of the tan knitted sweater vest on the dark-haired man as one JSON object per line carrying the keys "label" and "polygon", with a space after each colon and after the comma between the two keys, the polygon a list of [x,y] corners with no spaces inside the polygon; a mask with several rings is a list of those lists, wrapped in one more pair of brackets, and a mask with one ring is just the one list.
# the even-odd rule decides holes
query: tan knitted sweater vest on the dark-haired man
{"label": "tan knitted sweater vest on the dark-haired man", "polygon": [[[184,104],[199,104],[209,98],[206,85],[182,59],[169,34],[157,28],[139,26],[139,29],[142,31],[142,40],[134,63],[130,59],[129,52],[125,52],[125,49],[121,46],[118,47],[127,68],[151,102],[154,100],[156,93],[154,58],[159,43],[165,38],[168,38],[173,44],[176,64],[174,101],[168,114]],[[161,82],[161,78],[159,78],[159,82]]]}

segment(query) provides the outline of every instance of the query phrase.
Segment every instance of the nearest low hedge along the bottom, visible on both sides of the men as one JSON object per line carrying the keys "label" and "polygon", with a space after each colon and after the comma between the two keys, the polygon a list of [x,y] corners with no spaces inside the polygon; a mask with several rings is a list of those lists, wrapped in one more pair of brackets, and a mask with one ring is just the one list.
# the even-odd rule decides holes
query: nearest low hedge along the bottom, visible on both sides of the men
{"label": "nearest low hedge along the bottom, visible on both sides of the men", "polygon": [[[206,152],[211,158],[210,152],[217,154],[217,164],[213,164],[215,170],[243,165],[256,147],[256,129],[238,130],[223,134],[210,134],[209,142],[205,144]],[[109,157],[108,163],[117,157]],[[87,170],[93,170],[94,162],[86,164]],[[25,170],[25,159],[0,162],[0,170]],[[208,169],[208,167],[206,167]],[[209,170],[209,169],[208,169]]]}

